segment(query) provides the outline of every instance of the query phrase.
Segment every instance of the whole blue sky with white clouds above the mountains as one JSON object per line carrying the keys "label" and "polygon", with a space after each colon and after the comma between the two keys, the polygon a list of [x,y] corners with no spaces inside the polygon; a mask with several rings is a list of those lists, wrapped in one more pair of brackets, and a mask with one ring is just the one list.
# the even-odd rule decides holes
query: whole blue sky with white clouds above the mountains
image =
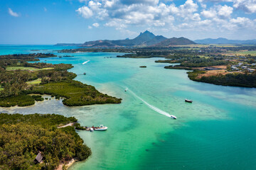
{"label": "whole blue sky with white clouds above the mountains", "polygon": [[0,44],[134,38],[256,39],[256,0],[1,0]]}

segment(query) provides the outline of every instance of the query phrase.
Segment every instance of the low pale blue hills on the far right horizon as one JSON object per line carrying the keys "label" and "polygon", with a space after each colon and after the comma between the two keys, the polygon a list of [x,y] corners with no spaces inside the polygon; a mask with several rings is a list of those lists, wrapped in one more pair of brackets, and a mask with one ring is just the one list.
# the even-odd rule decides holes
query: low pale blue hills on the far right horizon
{"label": "low pale blue hills on the far right horizon", "polygon": [[206,38],[203,40],[194,40],[198,44],[256,44],[256,40],[228,40],[226,38]]}

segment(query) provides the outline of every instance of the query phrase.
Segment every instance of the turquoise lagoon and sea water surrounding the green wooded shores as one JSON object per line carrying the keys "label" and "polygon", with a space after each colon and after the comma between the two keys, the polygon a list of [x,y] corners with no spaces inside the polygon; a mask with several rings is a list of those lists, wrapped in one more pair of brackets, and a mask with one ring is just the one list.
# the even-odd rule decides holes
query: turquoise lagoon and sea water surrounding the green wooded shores
{"label": "turquoise lagoon and sea water surrounding the green wooded shores", "polygon": [[[55,50],[13,47],[15,52],[35,48]],[[0,111],[58,113],[75,116],[81,125],[106,125],[105,132],[78,131],[92,156],[72,170],[256,169],[256,89],[191,81],[186,71],[164,69],[166,64],[155,63],[156,58],[117,58],[117,53],[100,52],[71,55],[42,61],[73,64],[70,72],[87,73],[76,80],[123,98],[122,103],[70,108],[51,100]],[[192,98],[193,103],[185,103],[184,98]]]}

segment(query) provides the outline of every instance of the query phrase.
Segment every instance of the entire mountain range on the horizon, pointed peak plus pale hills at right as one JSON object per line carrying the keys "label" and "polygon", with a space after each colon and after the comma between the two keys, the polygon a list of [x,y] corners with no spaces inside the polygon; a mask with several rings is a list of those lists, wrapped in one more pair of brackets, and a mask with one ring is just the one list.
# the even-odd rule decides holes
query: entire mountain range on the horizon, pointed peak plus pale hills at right
{"label": "entire mountain range on the horizon, pointed peak plus pale hills at right", "polygon": [[146,30],[134,39],[125,40],[95,40],[85,43],[58,43],[56,46],[77,46],[77,47],[171,47],[175,45],[193,44],[245,44],[256,45],[256,40],[228,40],[226,38],[206,38],[203,40],[188,40],[188,38],[165,38],[162,35],[154,35]]}

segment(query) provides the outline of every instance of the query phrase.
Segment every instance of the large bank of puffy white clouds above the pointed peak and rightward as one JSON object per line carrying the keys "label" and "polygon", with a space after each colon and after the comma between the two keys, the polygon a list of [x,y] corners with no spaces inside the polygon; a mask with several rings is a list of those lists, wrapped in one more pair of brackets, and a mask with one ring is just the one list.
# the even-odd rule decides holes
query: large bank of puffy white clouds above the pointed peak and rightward
{"label": "large bank of puffy white clouds above the pointed peak and rightward", "polygon": [[[204,5],[206,1],[212,1],[213,4],[206,6]],[[231,3],[218,4],[226,1]],[[240,8],[235,6],[238,1],[240,6],[245,5],[244,0],[186,0],[181,5],[176,5],[175,1],[166,3],[159,0],[88,0],[76,11],[80,16],[92,18],[97,23],[100,20],[102,26],[113,27],[120,33],[128,33],[129,27],[151,28],[156,31],[165,30],[165,32],[168,30],[208,32],[210,30],[218,33],[240,28],[255,30],[256,19],[253,21],[253,19],[235,15],[235,9]],[[203,8],[199,8],[199,4]],[[234,16],[236,18],[233,18]],[[90,26],[90,28],[93,27],[98,26]]]}

